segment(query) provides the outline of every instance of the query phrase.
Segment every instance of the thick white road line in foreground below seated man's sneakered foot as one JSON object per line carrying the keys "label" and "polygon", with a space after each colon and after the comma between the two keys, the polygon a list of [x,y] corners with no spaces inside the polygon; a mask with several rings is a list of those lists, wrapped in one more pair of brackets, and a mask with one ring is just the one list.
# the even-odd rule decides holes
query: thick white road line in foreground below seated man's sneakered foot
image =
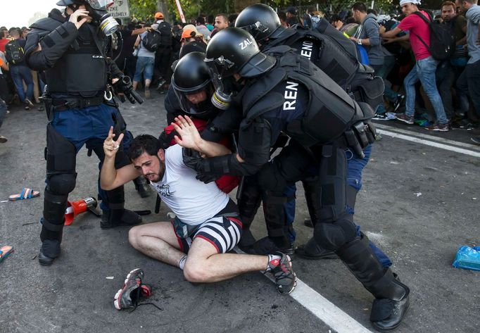
{"label": "thick white road line in foreground below seated man's sneakered foot", "polygon": [[[246,254],[241,251],[238,246],[234,247],[236,253]],[[272,275],[263,274],[270,281],[275,282]],[[360,322],[351,318],[350,315],[343,312],[341,308],[331,303],[324,296],[320,295],[314,289],[308,287],[301,279],[297,277],[297,285],[295,289],[289,294],[292,299],[301,304],[304,308],[309,310],[312,315],[315,315],[322,322],[334,329],[338,333],[372,333],[365,328]]]}

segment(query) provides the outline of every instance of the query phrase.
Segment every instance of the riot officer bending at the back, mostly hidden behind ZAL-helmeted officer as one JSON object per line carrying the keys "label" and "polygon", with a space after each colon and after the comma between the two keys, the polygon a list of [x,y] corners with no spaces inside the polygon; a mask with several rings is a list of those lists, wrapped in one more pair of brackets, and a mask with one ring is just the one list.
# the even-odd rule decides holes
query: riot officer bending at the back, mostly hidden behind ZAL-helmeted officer
{"label": "riot officer bending at the back, mostly hidden behind ZAL-helmeted officer", "polygon": [[[375,78],[373,76],[373,70],[358,61],[355,53],[355,45],[332,28],[326,20],[322,20],[319,25],[319,30],[322,30],[324,33],[320,33],[319,30],[310,30],[301,25],[296,25],[295,28],[285,28],[281,25],[277,13],[270,6],[254,4],[241,11],[239,17],[236,19],[235,26],[251,32],[258,42],[260,49],[264,52],[280,45],[291,46],[296,50],[297,54],[312,61],[312,63],[317,65],[318,68],[339,84],[346,92],[354,96],[357,101],[369,103],[372,108],[375,108],[377,104],[381,102],[384,88],[383,81],[379,77]],[[370,151],[371,146],[367,146],[364,149],[363,156],[358,156],[356,153],[347,151],[349,179],[347,187],[347,207],[351,213],[353,213],[356,195],[361,187],[362,168],[364,168],[368,162]],[[322,215],[319,215],[319,212],[315,210],[314,203],[317,196],[315,193],[317,177],[309,177],[302,182],[310,219],[321,219]],[[246,187],[246,191],[248,189],[248,193],[253,193],[254,189],[251,187],[255,186],[255,184],[252,184],[252,182],[247,182],[247,184],[249,186]],[[270,198],[270,204],[265,204],[264,202],[264,209],[270,208],[271,210],[270,213],[265,214],[265,222],[267,222],[267,230],[269,231],[270,237],[269,239],[260,239],[257,244],[254,244],[256,251],[263,252],[267,250],[268,247],[280,245],[278,237],[276,244],[271,244],[272,241],[270,239],[275,239],[275,237],[272,237],[272,234],[275,234],[275,231],[272,230],[272,225],[277,225],[278,228],[283,225],[286,234],[283,238],[284,246],[287,243],[286,237],[289,236],[289,238],[292,238],[292,228],[288,226],[288,223],[293,222],[295,215],[294,194],[295,185],[293,184],[286,188],[283,199],[281,197],[277,199]],[[253,200],[250,205],[254,206],[255,197],[252,195],[249,197]],[[275,203],[278,206],[282,200],[290,202],[288,204],[289,206],[286,206],[285,210],[282,210],[280,207],[274,208]],[[292,207],[291,201],[293,201],[293,211],[287,208]],[[272,219],[277,220],[277,222],[272,223]],[[391,265],[391,260],[385,253],[374,244],[370,244],[372,249],[374,249],[374,253],[381,260],[381,263],[386,266]],[[285,251],[285,249],[282,249],[282,251]],[[314,239],[310,239],[304,246],[298,246],[296,253],[299,256],[310,259],[335,257],[332,256],[333,253],[331,253],[331,251],[320,248]]]}

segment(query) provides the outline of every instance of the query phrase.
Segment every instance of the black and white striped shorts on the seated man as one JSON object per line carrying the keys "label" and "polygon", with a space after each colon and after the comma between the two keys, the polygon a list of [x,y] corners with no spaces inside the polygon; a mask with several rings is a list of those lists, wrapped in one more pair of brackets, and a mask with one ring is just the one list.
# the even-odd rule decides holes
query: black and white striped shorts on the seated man
{"label": "black and white striped shorts on the seated man", "polygon": [[[239,243],[242,225],[241,221],[231,216],[215,216],[201,225],[194,227],[185,225],[178,218],[172,222],[177,235],[180,250],[188,253],[191,242],[199,237],[215,246],[217,253],[227,253]],[[180,230],[188,230],[186,233]]]}

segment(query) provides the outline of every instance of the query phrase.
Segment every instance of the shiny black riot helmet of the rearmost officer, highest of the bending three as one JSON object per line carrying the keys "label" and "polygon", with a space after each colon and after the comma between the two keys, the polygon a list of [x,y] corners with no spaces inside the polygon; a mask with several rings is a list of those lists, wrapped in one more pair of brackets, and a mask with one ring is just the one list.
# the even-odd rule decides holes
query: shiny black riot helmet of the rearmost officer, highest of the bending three
{"label": "shiny black riot helmet of the rearmost officer, highest of the bending three", "polygon": [[246,7],[236,18],[235,27],[250,32],[257,42],[277,38],[277,35],[285,29],[273,8],[264,4]]}

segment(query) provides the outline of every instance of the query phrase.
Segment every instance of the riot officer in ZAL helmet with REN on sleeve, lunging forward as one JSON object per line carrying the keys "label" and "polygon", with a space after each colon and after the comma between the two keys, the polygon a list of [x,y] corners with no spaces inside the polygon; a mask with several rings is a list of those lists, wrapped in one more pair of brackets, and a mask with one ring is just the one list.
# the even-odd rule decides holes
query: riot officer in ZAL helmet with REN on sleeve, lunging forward
{"label": "riot officer in ZAL helmet with REN on sleeve, lunging forward", "polygon": [[[263,54],[251,34],[238,28],[213,37],[206,61],[216,77],[233,75],[244,84],[238,95],[244,114],[238,152],[201,158],[186,149],[184,163],[205,181],[222,174],[258,173],[260,187],[273,196],[282,195],[286,184],[317,175],[315,209],[325,218],[315,223],[315,241],[334,251],[374,295],[372,325],[382,331],[398,327],[409,306],[410,289],[379,263],[368,238],[358,235],[344,209],[344,149],[361,154],[374,142],[372,108],[353,101],[322,70],[286,46]],[[280,132],[291,141],[269,162],[270,147]]]}

